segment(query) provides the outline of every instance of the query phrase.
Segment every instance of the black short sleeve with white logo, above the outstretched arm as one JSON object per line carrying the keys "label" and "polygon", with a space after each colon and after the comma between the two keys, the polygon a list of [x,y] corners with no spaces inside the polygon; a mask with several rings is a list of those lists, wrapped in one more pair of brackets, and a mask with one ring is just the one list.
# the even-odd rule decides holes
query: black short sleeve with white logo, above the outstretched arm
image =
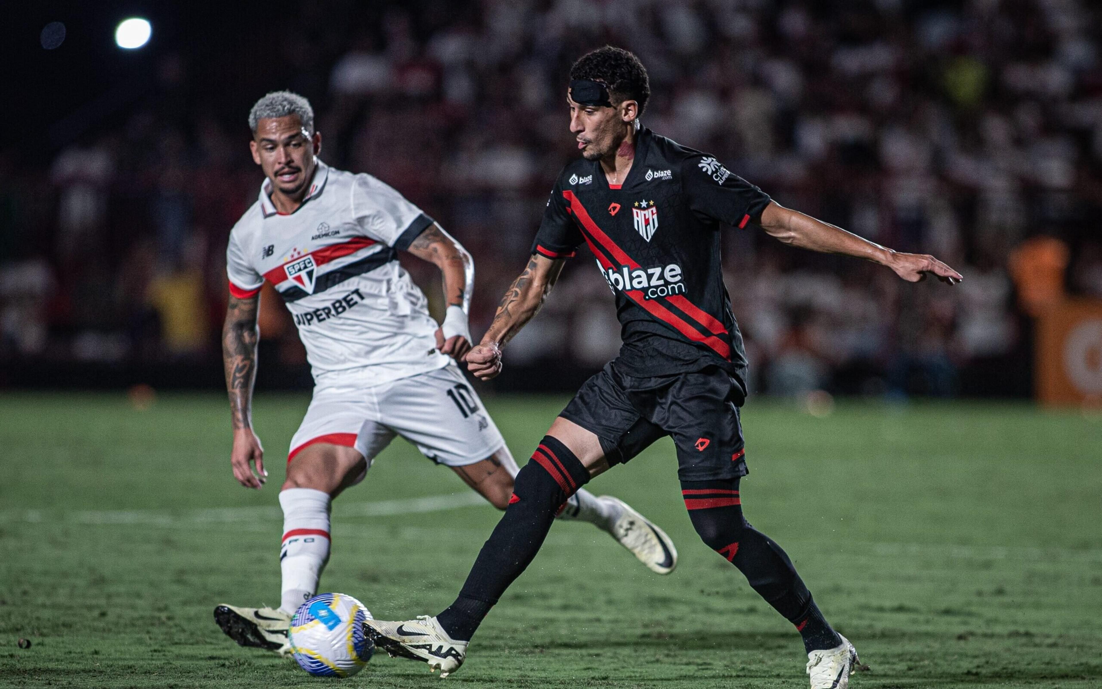
{"label": "black short sleeve with white logo, above the outstretched arm", "polygon": [[699,217],[739,228],[759,220],[770,201],[768,194],[705,153],[682,161],[681,189],[689,207]]}

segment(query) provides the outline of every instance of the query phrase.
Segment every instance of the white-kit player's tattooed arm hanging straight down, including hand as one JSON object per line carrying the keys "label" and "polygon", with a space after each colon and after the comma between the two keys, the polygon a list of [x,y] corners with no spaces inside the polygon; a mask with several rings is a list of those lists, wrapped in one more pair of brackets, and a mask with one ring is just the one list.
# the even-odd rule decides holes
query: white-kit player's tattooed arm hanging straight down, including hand
{"label": "white-kit player's tattooed arm hanging straight down, including hand", "polygon": [[[257,308],[260,297],[237,299],[229,297],[226,323],[222,329],[222,363],[226,370],[226,389],[234,421],[234,449],[229,463],[234,477],[248,488],[264,484],[264,450],[252,432],[252,384],[257,378]],[[256,464],[253,473],[251,464]]]}

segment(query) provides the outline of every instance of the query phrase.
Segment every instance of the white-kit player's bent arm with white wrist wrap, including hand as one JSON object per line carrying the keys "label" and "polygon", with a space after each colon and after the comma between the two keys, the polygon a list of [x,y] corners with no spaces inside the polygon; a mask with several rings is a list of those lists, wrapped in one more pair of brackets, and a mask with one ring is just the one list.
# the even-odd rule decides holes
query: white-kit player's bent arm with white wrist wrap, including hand
{"label": "white-kit player's bent arm with white wrist wrap, including hand", "polygon": [[440,268],[444,276],[447,311],[436,331],[436,348],[462,362],[471,351],[471,292],[475,284],[475,262],[454,237],[433,223],[410,244],[409,252]]}

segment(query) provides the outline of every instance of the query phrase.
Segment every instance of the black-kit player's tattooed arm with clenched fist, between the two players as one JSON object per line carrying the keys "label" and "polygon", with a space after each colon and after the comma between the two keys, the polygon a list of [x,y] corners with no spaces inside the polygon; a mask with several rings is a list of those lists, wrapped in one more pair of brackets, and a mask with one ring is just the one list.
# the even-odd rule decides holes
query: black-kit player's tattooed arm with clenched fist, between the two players
{"label": "black-kit player's tattooed arm with clenched fist, between the two players", "polygon": [[482,380],[489,380],[501,373],[501,347],[540,310],[565,263],[562,258],[532,255],[528,267],[512,281],[501,299],[494,322],[482,342],[467,354],[471,373]]}

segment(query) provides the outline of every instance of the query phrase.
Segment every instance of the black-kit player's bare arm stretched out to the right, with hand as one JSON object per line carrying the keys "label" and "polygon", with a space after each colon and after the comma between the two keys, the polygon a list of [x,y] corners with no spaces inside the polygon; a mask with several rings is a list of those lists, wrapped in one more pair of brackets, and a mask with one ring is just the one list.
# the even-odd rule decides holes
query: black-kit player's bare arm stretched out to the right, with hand
{"label": "black-kit player's bare arm stretched out to the right, with hand", "polygon": [[801,249],[842,254],[887,266],[908,282],[918,282],[933,274],[942,282],[955,284],[964,278],[932,256],[900,254],[847,233],[810,215],[770,202],[761,212],[761,229],[769,235]]}

